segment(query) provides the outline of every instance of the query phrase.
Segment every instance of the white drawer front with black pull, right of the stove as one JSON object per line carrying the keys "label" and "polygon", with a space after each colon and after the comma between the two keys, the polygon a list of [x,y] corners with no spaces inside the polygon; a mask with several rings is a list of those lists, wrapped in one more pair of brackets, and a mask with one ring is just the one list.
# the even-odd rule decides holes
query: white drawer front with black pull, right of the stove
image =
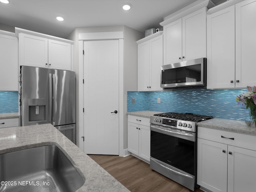
{"label": "white drawer front with black pull, right of the stove", "polygon": [[[198,138],[256,150],[256,136],[211,128],[198,127]],[[230,139],[234,138],[234,139]]]}

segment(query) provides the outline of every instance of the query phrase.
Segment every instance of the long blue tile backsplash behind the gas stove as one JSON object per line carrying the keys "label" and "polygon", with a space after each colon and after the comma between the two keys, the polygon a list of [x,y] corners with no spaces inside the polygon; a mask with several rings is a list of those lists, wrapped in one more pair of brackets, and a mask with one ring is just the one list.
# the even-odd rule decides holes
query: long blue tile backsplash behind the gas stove
{"label": "long blue tile backsplash behind the gas stove", "polygon": [[[127,112],[162,111],[210,115],[215,118],[244,120],[249,116],[246,108],[239,106],[236,96],[247,89],[208,90],[174,89],[159,92],[127,92]],[[132,104],[132,98],[135,103]],[[157,103],[161,98],[161,103]]]}

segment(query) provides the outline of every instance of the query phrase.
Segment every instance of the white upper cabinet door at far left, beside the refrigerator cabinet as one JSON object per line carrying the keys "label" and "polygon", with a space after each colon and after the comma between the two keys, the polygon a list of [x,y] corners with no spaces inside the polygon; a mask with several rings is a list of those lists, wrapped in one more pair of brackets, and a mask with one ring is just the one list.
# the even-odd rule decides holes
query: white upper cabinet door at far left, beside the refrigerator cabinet
{"label": "white upper cabinet door at far left, beside the refrigerator cabinet", "polygon": [[0,34],[0,90],[18,91],[18,38]]}

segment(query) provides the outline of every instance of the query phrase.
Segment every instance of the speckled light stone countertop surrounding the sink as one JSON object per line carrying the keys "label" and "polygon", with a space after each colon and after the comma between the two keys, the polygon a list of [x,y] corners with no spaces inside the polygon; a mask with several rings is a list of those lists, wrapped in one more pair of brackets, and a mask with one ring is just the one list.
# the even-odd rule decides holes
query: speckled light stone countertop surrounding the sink
{"label": "speckled light stone countertop surrounding the sink", "polygon": [[0,129],[0,154],[44,145],[58,146],[85,178],[83,186],[76,192],[129,191],[52,124]]}

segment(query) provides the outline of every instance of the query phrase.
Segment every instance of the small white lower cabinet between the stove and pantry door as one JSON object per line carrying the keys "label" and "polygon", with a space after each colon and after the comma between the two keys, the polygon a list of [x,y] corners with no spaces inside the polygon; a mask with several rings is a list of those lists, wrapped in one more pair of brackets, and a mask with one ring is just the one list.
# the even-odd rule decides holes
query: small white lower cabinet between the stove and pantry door
{"label": "small white lower cabinet between the stove and pantry door", "polygon": [[128,115],[128,151],[150,161],[150,119]]}

